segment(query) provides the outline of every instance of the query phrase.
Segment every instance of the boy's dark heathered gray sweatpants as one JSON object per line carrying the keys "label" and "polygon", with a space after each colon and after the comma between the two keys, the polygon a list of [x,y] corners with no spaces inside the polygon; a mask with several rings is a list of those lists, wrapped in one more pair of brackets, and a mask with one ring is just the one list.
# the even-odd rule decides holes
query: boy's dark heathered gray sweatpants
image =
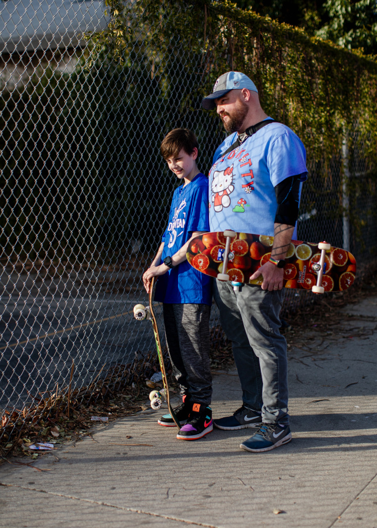
{"label": "boy's dark heathered gray sweatpants", "polygon": [[181,395],[209,405],[212,397],[210,369],[210,312],[205,304],[163,303],[167,350]]}

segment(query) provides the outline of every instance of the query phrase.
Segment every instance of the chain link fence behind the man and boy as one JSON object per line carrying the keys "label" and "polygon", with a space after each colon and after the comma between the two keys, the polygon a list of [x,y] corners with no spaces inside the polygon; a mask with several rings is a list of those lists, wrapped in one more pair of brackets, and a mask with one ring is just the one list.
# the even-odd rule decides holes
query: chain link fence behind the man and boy
{"label": "chain link fence behind the man and boy", "polygon": [[[0,0],[1,414],[67,386],[72,372],[86,388],[153,350],[133,306],[146,300],[142,272],[177,184],[159,143],[171,128],[193,129],[206,173],[224,137],[200,99],[185,107],[203,82],[200,58],[195,68],[183,43],[165,42],[166,77],[156,76],[147,26],[124,64],[98,58],[83,34],[107,23],[95,0]],[[321,163],[309,160],[299,237],[369,260],[375,179],[352,149],[334,155],[326,181]],[[286,309],[304,297],[290,292]]]}

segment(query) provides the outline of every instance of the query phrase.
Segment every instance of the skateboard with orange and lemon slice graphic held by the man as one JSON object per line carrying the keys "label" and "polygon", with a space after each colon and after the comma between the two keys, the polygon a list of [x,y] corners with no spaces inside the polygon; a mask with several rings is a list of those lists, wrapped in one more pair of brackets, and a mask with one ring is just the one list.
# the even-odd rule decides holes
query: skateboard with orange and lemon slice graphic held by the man
{"label": "skateboard with orange and lemon slice graphic held by the man", "polygon": [[[230,280],[238,286],[260,285],[262,276],[254,280],[250,277],[269,260],[273,243],[274,237],[266,235],[231,230],[204,233],[191,240],[186,256],[191,266],[205,275]],[[346,290],[355,280],[355,257],[327,242],[292,240],[285,261],[285,288],[321,294]]]}

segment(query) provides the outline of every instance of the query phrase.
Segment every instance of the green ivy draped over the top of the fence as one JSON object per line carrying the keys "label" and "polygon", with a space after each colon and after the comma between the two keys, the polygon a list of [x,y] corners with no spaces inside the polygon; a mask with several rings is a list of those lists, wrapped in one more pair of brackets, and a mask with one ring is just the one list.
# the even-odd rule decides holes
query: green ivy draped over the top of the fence
{"label": "green ivy draped over the top of the fence", "polygon": [[[360,52],[308,36],[228,0],[107,0],[111,21],[92,35],[99,54],[119,63],[135,46],[150,50],[161,89],[168,90],[166,51],[184,43],[199,82],[182,98],[182,107],[202,111],[200,98],[225,71],[251,77],[263,109],[293,128],[309,159],[331,161],[345,134],[363,147],[371,171],[377,165],[377,63]],[[186,88],[185,88],[186,89]],[[325,175],[324,175],[325,176]]]}

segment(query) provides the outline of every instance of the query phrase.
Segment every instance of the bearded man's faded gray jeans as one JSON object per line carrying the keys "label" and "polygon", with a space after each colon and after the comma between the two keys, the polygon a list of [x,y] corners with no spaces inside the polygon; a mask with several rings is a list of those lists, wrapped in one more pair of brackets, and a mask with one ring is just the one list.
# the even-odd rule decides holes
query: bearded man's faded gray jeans
{"label": "bearded man's faded gray jeans", "polygon": [[246,407],[262,411],[262,420],[288,423],[287,343],[280,335],[284,291],[214,280],[213,295],[225,335],[232,342]]}

